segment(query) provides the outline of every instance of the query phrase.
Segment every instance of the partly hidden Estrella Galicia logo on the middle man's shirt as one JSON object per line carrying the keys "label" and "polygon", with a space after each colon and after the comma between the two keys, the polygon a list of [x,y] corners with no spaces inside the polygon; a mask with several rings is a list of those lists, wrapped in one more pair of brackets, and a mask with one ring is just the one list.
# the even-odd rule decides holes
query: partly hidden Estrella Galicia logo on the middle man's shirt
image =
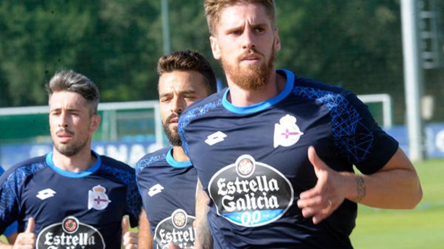
{"label": "partly hidden Estrella Galicia logo on the middle man's shirt", "polygon": [[173,214],[160,221],[155,230],[154,240],[157,249],[168,249],[168,243],[174,242],[181,248],[193,248],[196,231],[193,222],[196,217],[188,215],[183,209],[176,209]]}

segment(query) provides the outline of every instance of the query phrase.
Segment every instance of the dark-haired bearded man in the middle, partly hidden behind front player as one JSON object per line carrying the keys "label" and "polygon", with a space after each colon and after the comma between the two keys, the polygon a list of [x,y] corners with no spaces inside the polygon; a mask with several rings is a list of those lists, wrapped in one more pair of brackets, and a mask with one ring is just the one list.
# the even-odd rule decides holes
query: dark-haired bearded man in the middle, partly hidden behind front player
{"label": "dark-haired bearded man in the middle, partly hidden behind front player", "polygon": [[215,93],[216,79],[205,57],[190,50],[160,57],[157,72],[160,114],[170,146],[137,163],[137,185],[150,227],[139,230],[139,246],[194,246],[197,174],[181,147],[177,123],[187,106]]}

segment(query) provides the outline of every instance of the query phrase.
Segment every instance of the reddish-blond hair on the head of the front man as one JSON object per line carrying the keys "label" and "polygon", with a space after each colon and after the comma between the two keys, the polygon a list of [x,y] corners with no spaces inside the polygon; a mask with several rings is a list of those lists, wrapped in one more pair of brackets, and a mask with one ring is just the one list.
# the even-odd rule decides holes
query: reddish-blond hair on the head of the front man
{"label": "reddish-blond hair on the head of the front man", "polygon": [[205,17],[211,35],[214,35],[216,32],[216,25],[219,22],[220,14],[222,13],[222,11],[225,8],[233,6],[237,3],[260,4],[263,7],[265,7],[267,16],[270,19],[271,25],[274,28],[274,23],[275,23],[274,0],[205,0],[203,6],[205,8]]}

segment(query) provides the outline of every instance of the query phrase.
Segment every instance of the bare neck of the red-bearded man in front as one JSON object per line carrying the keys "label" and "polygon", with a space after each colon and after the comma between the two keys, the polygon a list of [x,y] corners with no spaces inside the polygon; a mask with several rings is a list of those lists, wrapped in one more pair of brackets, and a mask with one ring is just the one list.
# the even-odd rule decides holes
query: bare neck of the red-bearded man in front
{"label": "bare neck of the red-bearded man in front", "polygon": [[229,95],[227,96],[228,101],[239,107],[250,106],[269,100],[281,93],[286,84],[285,77],[276,73],[274,70],[271,73],[267,84],[257,90],[244,90],[229,78],[227,81],[228,87],[230,88]]}

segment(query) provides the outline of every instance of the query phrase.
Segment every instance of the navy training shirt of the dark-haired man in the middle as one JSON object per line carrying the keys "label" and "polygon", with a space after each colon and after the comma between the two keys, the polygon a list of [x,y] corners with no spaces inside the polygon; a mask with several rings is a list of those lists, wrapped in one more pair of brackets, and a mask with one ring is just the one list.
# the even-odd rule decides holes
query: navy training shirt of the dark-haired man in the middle
{"label": "navy training shirt of the dark-haired man in the middle", "polygon": [[197,172],[190,161],[176,161],[173,148],[149,153],[136,166],[136,180],[153,235],[153,248],[175,242],[194,246]]}

